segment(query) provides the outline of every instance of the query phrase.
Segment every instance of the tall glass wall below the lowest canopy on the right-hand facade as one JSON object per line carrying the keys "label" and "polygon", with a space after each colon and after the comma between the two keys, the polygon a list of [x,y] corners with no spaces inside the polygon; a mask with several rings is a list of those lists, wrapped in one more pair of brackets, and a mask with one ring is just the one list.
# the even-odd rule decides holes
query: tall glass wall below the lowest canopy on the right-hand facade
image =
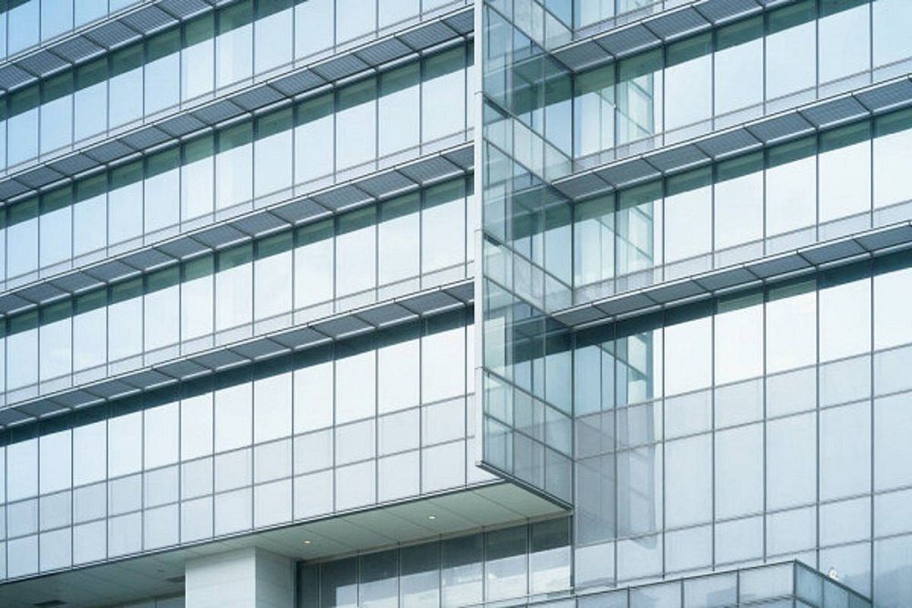
{"label": "tall glass wall below the lowest canopy on the right-hand facade", "polygon": [[575,584],[795,557],[900,605],[910,267],[575,335]]}

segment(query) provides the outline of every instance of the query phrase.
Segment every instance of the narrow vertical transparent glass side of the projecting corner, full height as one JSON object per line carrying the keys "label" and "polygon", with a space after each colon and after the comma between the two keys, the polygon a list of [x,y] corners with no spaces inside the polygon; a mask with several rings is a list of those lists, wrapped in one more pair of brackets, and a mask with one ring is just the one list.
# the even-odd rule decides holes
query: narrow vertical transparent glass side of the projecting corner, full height
{"label": "narrow vertical transparent glass side of the projecting corner, full height", "polygon": [[571,77],[526,33],[553,14],[525,8],[482,7],[482,462],[570,503],[568,335],[544,312],[570,302],[571,208],[544,180],[568,168]]}

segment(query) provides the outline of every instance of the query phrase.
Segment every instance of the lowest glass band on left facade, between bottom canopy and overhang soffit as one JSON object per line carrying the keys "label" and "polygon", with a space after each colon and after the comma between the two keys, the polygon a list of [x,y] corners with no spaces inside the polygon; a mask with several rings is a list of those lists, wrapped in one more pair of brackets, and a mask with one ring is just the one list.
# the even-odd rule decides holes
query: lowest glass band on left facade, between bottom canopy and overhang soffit
{"label": "lowest glass band on left facade, between bottom canopy and overhang soffit", "polygon": [[243,366],[0,438],[0,574],[52,572],[488,478],[472,312]]}

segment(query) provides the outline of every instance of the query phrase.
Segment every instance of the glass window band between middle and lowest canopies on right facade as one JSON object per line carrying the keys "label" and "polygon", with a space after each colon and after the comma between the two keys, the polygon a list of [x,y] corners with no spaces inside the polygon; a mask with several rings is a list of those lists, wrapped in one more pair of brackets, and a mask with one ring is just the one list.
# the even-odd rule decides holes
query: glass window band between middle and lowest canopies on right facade
{"label": "glass window band between middle and lowest canopies on right facade", "polygon": [[909,166],[902,110],[576,202],[575,302],[901,221]]}

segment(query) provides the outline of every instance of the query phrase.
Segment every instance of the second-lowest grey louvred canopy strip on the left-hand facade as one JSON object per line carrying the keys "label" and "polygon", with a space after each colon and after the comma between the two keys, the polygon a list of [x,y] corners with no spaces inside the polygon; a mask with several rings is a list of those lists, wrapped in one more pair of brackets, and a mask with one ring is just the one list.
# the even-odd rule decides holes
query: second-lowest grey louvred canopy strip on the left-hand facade
{"label": "second-lowest grey louvred canopy strip on the left-hand facade", "polygon": [[0,315],[117,283],[204,253],[388,199],[399,193],[464,176],[472,170],[472,144],[445,149],[364,178],[250,211],[228,222],[185,232],[167,241],[98,263],[38,279],[0,295]]}

